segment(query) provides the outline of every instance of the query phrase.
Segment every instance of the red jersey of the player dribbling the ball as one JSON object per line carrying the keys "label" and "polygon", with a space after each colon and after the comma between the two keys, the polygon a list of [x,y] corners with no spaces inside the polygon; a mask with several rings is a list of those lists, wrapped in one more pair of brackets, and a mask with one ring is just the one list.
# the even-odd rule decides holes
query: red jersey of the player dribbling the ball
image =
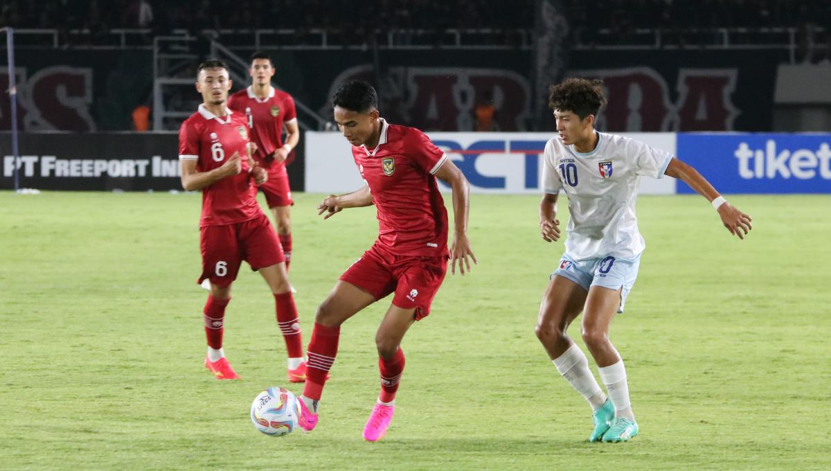
{"label": "red jersey of the player dribbling the ball", "polygon": [[396,255],[446,255],[447,210],[433,176],[444,151],[416,128],[381,120],[375,150],[352,146],[352,157],[375,201],[376,243]]}

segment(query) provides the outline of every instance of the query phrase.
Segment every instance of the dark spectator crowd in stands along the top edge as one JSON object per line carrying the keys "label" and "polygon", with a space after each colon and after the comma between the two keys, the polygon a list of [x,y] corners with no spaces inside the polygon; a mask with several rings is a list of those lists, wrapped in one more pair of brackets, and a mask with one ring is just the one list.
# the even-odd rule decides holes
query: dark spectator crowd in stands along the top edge
{"label": "dark spectator crowd in stands along the top edge", "polygon": [[[720,27],[831,27],[829,0],[540,0],[563,9],[574,41],[591,42],[600,29],[615,40],[636,29],[670,31]],[[86,30],[105,41],[116,28],[293,29],[298,41],[314,29],[340,32],[346,43],[370,32],[446,29],[532,29],[537,0],[0,0],[2,26]],[[302,42],[301,42],[302,43]]]}

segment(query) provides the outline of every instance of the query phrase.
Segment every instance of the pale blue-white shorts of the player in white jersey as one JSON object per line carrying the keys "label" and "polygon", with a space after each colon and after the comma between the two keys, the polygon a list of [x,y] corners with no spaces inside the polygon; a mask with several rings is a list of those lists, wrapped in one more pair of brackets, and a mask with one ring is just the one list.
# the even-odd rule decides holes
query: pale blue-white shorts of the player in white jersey
{"label": "pale blue-white shorts of the player in white jersey", "polygon": [[573,258],[563,254],[560,266],[551,276],[568,278],[588,292],[590,287],[607,287],[621,290],[621,307],[617,312],[623,312],[626,298],[635,285],[637,269],[641,266],[641,256],[636,258],[589,258],[576,262]]}

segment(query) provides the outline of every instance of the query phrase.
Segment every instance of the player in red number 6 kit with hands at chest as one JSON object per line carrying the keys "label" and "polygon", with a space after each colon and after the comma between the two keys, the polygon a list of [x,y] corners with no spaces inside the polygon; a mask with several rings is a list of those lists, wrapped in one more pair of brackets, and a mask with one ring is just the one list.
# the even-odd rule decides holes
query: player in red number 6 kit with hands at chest
{"label": "player in red number 6 kit with hands at chest", "polygon": [[253,144],[248,140],[245,116],[225,105],[230,89],[224,62],[204,61],[199,66],[196,82],[203,103],[179,130],[182,186],[188,191],[202,190],[199,222],[202,274],[198,282],[210,280],[210,294],[204,307],[208,337],[205,366],[219,380],[238,379],[225,359],[222,335],[225,307],[231,300],[231,283],[245,260],[260,272],[273,292],[278,325],[288,348],[288,377],[300,382],[305,380],[306,364],[297,307],[277,234],[257,204],[254,187],[268,180],[268,172],[250,157]]}

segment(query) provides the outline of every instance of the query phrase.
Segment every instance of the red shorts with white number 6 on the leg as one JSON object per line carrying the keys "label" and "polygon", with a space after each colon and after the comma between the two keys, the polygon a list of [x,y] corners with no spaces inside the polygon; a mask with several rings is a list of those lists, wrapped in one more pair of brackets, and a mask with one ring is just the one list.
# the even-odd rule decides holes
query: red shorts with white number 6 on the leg
{"label": "red shorts with white number 6 on the leg", "polygon": [[286,260],[274,227],[261,214],[244,223],[199,228],[202,248],[202,275],[210,282],[227,287],[237,279],[240,263],[245,260],[252,270],[270,267]]}

